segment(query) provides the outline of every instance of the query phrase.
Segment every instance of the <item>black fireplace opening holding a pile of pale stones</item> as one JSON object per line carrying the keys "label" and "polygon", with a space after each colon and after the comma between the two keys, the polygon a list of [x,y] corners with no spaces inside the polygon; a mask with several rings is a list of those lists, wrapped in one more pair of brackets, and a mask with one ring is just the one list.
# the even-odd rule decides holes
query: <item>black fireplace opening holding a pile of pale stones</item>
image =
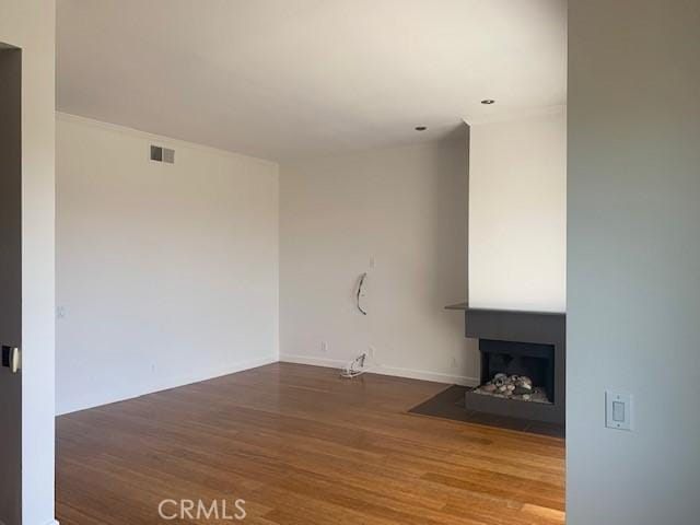
{"label": "black fireplace opening holding a pile of pale stones", "polygon": [[480,339],[481,384],[472,392],[529,402],[555,402],[555,346]]}

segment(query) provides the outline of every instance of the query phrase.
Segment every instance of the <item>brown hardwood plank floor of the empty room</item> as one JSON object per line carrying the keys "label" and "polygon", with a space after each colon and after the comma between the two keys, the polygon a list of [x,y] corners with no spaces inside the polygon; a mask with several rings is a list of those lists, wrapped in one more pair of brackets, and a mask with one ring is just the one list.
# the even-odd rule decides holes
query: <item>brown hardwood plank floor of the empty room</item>
{"label": "brown hardwood plank floor of the empty room", "polygon": [[[562,524],[563,441],[406,413],[444,387],[278,363],[62,416],[58,518]],[[167,522],[164,499],[243,499],[247,517]]]}

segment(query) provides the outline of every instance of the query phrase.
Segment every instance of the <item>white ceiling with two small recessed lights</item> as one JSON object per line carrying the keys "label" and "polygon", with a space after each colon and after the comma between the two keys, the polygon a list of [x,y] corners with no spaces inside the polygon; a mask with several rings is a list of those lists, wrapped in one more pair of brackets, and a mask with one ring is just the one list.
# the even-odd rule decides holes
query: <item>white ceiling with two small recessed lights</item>
{"label": "white ceiling with two small recessed lights", "polygon": [[272,160],[434,140],[563,104],[565,18],[565,0],[58,0],[57,103]]}

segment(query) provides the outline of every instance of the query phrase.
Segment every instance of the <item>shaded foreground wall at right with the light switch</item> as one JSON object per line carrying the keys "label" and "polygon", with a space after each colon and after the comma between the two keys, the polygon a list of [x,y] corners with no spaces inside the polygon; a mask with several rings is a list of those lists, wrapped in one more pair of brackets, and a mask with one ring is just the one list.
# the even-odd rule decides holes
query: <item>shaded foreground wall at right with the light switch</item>
{"label": "shaded foreground wall at right with the light switch", "polygon": [[567,523],[698,523],[700,4],[569,10]]}

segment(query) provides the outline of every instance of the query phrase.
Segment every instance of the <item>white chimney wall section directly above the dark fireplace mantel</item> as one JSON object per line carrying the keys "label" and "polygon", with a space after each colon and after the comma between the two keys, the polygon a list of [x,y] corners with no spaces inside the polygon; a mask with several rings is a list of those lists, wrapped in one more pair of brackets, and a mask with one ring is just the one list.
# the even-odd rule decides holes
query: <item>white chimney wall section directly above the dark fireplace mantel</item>
{"label": "white chimney wall section directly above the dark fireplace mantel", "polygon": [[471,126],[469,305],[564,312],[563,108]]}

